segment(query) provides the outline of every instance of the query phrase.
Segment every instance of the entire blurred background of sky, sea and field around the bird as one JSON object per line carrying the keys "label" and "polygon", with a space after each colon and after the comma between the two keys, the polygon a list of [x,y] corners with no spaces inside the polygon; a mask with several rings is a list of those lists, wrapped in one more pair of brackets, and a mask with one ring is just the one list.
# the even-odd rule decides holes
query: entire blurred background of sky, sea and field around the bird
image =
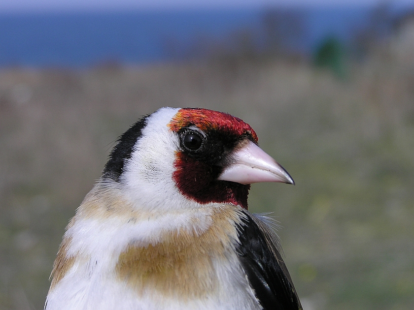
{"label": "entire blurred background of sky, sea and field around the bird", "polygon": [[41,310],[114,141],[162,106],[252,125],[305,310],[414,309],[414,4],[0,3],[0,309]]}

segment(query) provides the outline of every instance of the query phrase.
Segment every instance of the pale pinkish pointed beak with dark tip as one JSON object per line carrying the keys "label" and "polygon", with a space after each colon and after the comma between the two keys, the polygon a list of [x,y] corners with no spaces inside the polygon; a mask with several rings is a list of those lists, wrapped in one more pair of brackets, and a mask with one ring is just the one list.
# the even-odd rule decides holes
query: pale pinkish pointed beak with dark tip
{"label": "pale pinkish pointed beak with dark tip", "polygon": [[248,141],[230,155],[231,161],[218,177],[240,184],[282,182],[295,184],[286,170],[261,148]]}

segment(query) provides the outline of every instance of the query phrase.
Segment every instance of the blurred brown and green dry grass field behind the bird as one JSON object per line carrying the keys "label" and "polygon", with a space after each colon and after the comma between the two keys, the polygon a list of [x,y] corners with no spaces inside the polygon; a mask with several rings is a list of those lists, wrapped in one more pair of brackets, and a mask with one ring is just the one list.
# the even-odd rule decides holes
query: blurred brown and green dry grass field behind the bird
{"label": "blurred brown and green dry grass field behind the bird", "polygon": [[251,124],[296,182],[255,184],[305,310],[414,309],[414,66],[340,81],[287,61],[0,71],[0,309],[40,310],[64,228],[116,138],[162,106]]}

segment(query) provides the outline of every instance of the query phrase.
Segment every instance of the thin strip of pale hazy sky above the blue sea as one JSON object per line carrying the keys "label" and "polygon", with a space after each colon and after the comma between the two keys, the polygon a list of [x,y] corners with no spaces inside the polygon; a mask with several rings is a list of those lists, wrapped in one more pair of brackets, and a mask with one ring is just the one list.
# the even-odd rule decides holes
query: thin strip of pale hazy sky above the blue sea
{"label": "thin strip of pale hazy sky above the blue sea", "polygon": [[[375,5],[384,0],[1,0],[0,12],[72,11],[113,9],[182,9],[260,6]],[[413,6],[413,0],[390,0],[398,6]]]}

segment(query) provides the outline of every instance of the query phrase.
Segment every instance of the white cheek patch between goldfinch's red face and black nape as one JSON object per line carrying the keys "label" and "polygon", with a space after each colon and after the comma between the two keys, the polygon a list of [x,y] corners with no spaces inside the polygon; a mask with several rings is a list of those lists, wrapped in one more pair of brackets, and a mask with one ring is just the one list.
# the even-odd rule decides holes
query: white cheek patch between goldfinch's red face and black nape
{"label": "white cheek patch between goldfinch's red face and black nape", "polygon": [[179,193],[173,181],[179,140],[168,124],[178,110],[163,108],[148,117],[142,136],[125,163],[120,182],[125,187],[124,194],[138,209],[167,211],[197,207]]}

